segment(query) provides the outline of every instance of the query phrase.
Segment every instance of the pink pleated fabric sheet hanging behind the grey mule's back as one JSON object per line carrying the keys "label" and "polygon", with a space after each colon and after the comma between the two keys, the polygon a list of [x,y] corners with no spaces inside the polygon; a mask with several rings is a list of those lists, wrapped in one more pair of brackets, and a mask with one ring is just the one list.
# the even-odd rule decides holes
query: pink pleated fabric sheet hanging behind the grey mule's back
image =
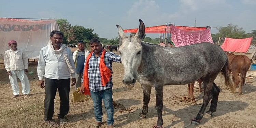
{"label": "pink pleated fabric sheet hanging behind the grey mule's back", "polygon": [[201,42],[213,43],[210,29],[201,31],[186,31],[175,26],[171,26],[171,40],[175,47]]}

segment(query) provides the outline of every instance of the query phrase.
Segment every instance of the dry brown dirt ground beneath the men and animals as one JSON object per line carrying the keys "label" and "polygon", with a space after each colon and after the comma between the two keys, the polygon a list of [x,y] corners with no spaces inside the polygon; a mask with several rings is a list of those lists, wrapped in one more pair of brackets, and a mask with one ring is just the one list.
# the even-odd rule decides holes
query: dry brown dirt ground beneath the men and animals
{"label": "dry brown dirt ground beneath the men and animals", "polygon": [[[249,54],[246,54],[249,55]],[[0,60],[2,63],[3,60]],[[44,89],[38,86],[37,66],[30,65],[28,77],[31,93],[28,97],[12,97],[12,88],[9,77],[3,64],[0,64],[0,128],[46,128],[43,120],[44,113]],[[114,125],[118,128],[152,128],[157,121],[155,109],[155,92],[152,89],[149,111],[146,119],[140,119],[139,114],[143,106],[143,93],[139,83],[134,88],[124,88],[122,78],[123,65],[113,63],[113,100],[114,100]],[[219,94],[217,111],[213,117],[204,117],[198,126],[188,128],[256,128],[256,80],[246,78],[243,87],[243,95],[231,94],[221,76],[215,80],[222,91]],[[20,84],[20,83],[19,83]],[[21,88],[21,87],[20,87]],[[93,128],[95,121],[92,100],[73,103],[70,90],[70,111],[66,116],[68,124],[61,128]],[[202,104],[203,93],[195,89],[196,103],[187,102],[187,85],[165,86],[163,94],[163,128],[182,128],[190,123]],[[238,93],[238,89],[236,89]],[[20,94],[21,89],[20,89]],[[59,112],[59,96],[55,98],[54,119],[57,120]],[[104,107],[103,107],[104,108]],[[207,110],[209,109],[209,105]],[[103,109],[104,124],[100,128],[106,128],[106,113]]]}

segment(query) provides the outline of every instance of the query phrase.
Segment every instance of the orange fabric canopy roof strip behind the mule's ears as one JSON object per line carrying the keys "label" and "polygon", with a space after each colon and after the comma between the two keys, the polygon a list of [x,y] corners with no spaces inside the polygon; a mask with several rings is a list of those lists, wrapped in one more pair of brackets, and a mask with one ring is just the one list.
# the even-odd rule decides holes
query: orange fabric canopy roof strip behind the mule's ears
{"label": "orange fabric canopy roof strip behind the mule's ears", "polygon": [[[201,30],[207,29],[206,27],[189,27],[189,26],[175,26],[175,27],[185,31],[201,31]],[[138,28],[125,29],[124,32],[136,33],[137,30]],[[168,28],[166,25],[152,26],[152,27],[146,27],[145,33],[165,33],[167,30]],[[169,26],[169,31],[171,32],[171,26]]]}

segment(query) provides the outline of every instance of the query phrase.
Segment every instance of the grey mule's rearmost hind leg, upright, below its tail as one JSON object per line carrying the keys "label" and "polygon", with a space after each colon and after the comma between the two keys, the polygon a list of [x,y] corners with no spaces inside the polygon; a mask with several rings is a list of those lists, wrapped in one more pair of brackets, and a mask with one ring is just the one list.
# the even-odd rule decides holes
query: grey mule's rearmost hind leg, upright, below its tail
{"label": "grey mule's rearmost hind leg, upright, below its tail", "polygon": [[217,102],[218,102],[218,97],[219,97],[219,92],[221,91],[221,89],[219,89],[217,87],[217,85],[213,82],[213,87],[212,87],[212,102],[211,102],[211,106],[209,111],[207,111],[206,113],[208,113],[210,116],[212,116],[213,112],[216,112],[217,109]]}

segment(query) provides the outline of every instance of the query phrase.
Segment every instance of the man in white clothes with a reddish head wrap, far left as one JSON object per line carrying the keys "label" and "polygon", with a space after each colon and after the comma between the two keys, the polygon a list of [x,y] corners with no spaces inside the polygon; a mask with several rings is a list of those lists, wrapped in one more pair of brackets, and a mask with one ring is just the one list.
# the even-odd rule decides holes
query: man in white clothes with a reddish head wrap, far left
{"label": "man in white clothes with a reddish head wrap, far left", "polygon": [[11,49],[5,51],[4,67],[7,70],[12,85],[13,98],[19,96],[17,77],[22,83],[22,93],[26,96],[30,92],[29,81],[26,75],[28,72],[28,59],[24,51],[17,48],[17,42],[15,40],[10,40],[8,45],[11,46]]}

